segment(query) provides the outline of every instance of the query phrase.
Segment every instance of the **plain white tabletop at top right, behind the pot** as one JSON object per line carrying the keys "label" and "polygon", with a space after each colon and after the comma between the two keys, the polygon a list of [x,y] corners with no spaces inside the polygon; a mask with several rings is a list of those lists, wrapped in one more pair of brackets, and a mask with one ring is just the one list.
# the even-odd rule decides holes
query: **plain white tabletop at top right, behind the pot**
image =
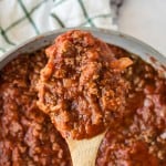
{"label": "plain white tabletop at top right, behind the pot", "polygon": [[166,0],[124,0],[118,25],[166,56]]}

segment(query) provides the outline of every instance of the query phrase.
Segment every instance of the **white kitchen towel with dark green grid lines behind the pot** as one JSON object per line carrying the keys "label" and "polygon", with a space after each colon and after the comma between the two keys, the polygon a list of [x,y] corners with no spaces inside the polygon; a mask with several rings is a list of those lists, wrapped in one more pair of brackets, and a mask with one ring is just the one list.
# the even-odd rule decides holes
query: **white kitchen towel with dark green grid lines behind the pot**
{"label": "white kitchen towel with dark green grid lines behind the pot", "polygon": [[0,54],[42,32],[74,27],[116,30],[110,0],[0,0]]}

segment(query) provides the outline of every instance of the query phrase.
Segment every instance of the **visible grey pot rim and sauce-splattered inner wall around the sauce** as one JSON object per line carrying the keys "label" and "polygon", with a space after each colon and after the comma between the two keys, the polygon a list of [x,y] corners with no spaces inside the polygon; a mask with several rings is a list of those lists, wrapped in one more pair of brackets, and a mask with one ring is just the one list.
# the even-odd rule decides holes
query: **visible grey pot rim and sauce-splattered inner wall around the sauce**
{"label": "visible grey pot rim and sauce-splattered inner wall around the sauce", "polygon": [[[105,42],[118,45],[141,56],[143,60],[149,62],[154,68],[162,71],[164,74],[166,73],[166,58],[162,55],[159,52],[157,52],[155,49],[138,41],[137,39],[112,30],[103,30],[94,28],[76,28],[76,29],[90,31],[95,37],[104,40]],[[0,58],[0,69],[2,69],[8,62],[10,62],[12,59],[14,59],[17,55],[21,53],[33,52],[43,46],[46,46],[48,44],[52,43],[58,35],[64,33],[68,30],[71,29],[61,29],[46,32],[28,40],[27,42],[20,44],[19,46],[15,46],[13,50],[4,53]]]}

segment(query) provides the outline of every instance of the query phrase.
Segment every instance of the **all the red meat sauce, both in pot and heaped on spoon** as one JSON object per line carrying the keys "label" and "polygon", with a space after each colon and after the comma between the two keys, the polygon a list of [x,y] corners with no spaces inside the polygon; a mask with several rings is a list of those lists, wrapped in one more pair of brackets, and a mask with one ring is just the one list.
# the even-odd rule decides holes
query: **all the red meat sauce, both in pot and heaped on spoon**
{"label": "all the red meat sauce, both in pot and heaped on spoon", "polygon": [[[72,49],[71,38],[63,37],[46,55],[44,49],[22,54],[0,71],[0,166],[70,166],[70,152],[58,129],[63,137],[83,138],[106,126],[96,166],[166,166],[166,79],[121,48],[91,37],[81,38]],[[84,60],[76,60],[75,52]],[[122,58],[133,64],[126,68],[131,62],[117,61]],[[53,113],[50,120],[48,106],[56,103],[63,114],[55,121]]]}

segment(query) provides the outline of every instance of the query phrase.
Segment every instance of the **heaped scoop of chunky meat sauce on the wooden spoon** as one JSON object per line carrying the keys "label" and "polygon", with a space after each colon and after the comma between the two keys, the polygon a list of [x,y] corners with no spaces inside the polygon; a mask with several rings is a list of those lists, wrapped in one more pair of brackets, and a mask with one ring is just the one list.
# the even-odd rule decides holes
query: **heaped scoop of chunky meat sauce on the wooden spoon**
{"label": "heaped scoop of chunky meat sauce on the wooden spoon", "polygon": [[121,115],[127,87],[121,71],[129,59],[117,60],[106,43],[79,30],[60,35],[46,55],[38,105],[63,137],[92,137]]}

